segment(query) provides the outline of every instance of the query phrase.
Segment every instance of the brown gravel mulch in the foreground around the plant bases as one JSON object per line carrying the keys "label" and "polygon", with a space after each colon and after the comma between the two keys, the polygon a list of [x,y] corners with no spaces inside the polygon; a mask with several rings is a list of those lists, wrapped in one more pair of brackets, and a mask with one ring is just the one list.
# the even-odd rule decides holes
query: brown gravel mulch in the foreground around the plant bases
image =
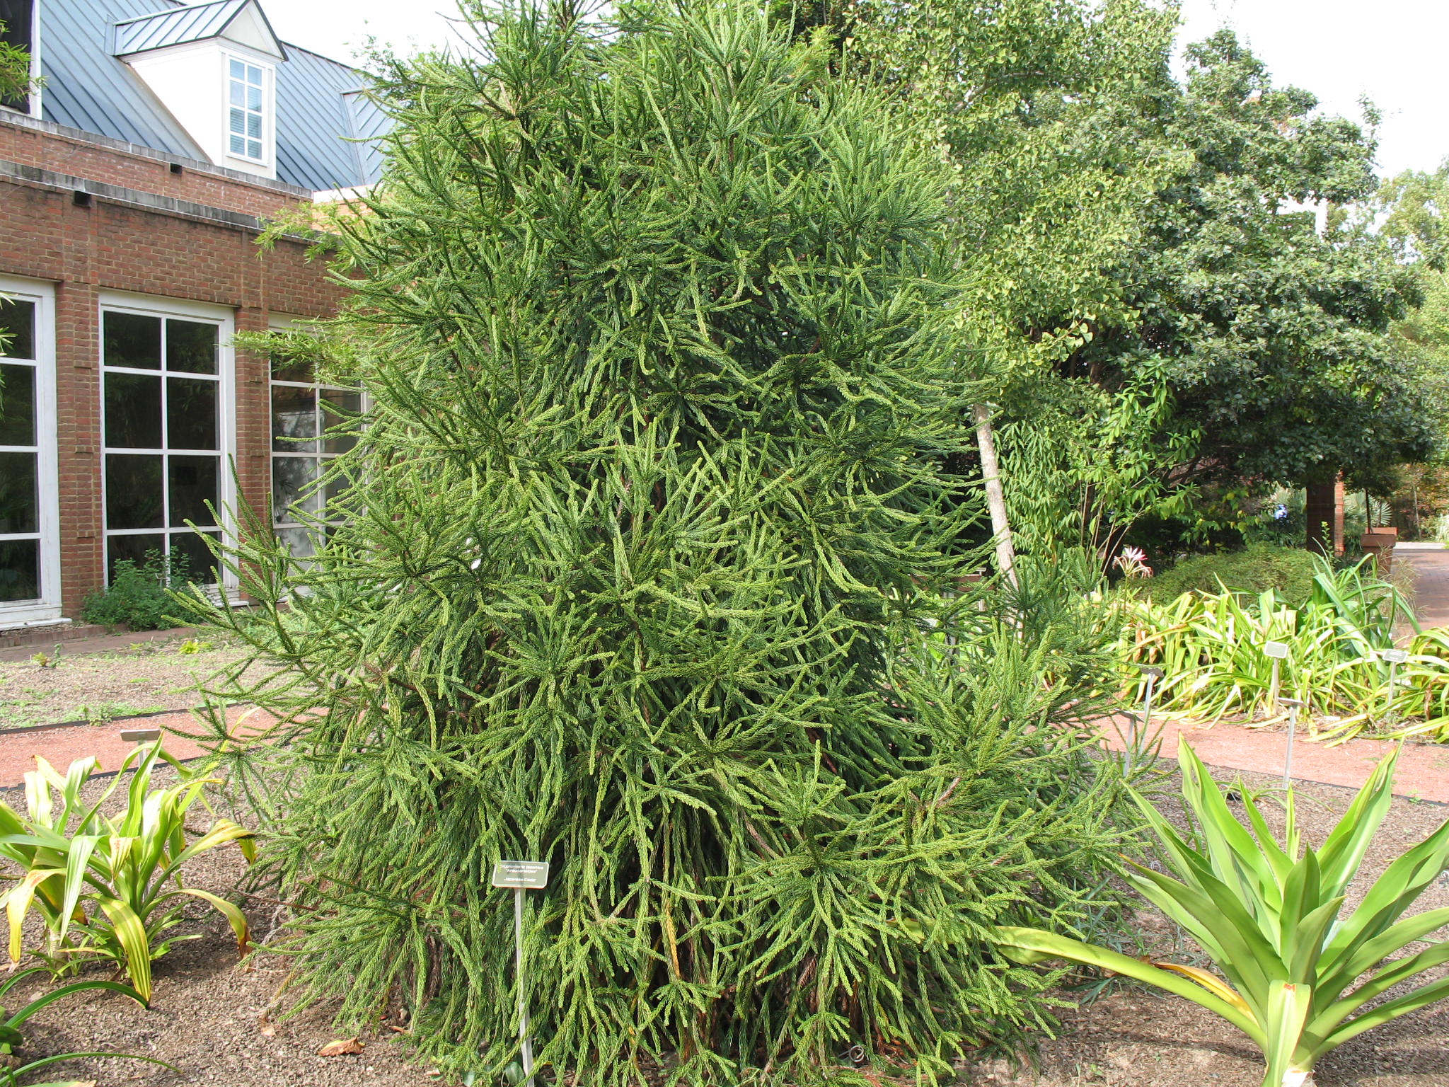
{"label": "brown gravel mulch in the foreground around the plant bases", "polygon": [[[165,781],[168,774],[158,771],[156,781]],[[1239,775],[1223,772],[1219,777],[1236,780]],[[1243,774],[1242,778],[1252,788],[1274,784],[1265,775]],[[1348,788],[1314,784],[1301,786],[1298,794],[1301,823],[1313,842],[1321,839],[1353,796]],[[12,804],[23,803],[20,790],[6,790],[4,799]],[[1164,803],[1172,817],[1177,817],[1175,809],[1175,800]],[[1362,894],[1371,878],[1407,845],[1424,838],[1446,813],[1449,809],[1439,804],[1395,799],[1355,890]],[[190,883],[243,903],[262,939],[274,930],[281,913],[272,903],[236,893],[242,870],[239,852],[227,846],[203,854],[190,870]],[[1423,894],[1414,912],[1442,906],[1449,906],[1445,880]],[[156,962],[151,1010],[143,1012],[113,994],[70,997],[32,1020],[23,1054],[113,1049],[158,1057],[181,1070],[178,1075],[119,1059],[64,1065],[67,1074],[91,1077],[99,1084],[401,1087],[438,1081],[426,1067],[409,1064],[407,1036],[391,1028],[380,1035],[364,1035],[361,1054],[320,1057],[319,1049],[346,1035],[333,1029],[325,1007],[294,1019],[283,1017],[277,991],[287,978],[288,959],[262,951],[239,964],[225,922],[200,904],[191,915],[196,919],[187,922],[190,932],[200,933],[201,939],[178,945]],[[1171,926],[1155,912],[1137,919],[1135,933],[1136,942],[1123,948],[1130,954],[1185,952],[1182,961],[1194,961],[1194,948],[1178,945]],[[43,988],[33,984],[26,996]],[[1245,1038],[1177,997],[1136,987],[1108,988],[1081,1009],[1068,1012],[1065,1020],[1066,1032],[1042,1045],[1039,1071],[984,1061],[962,1071],[965,1081],[994,1087],[1258,1087],[1262,1077],[1261,1059]],[[1449,1003],[1430,1006],[1348,1042],[1319,1070],[1319,1087],[1440,1087],[1445,1083],[1449,1083]]]}

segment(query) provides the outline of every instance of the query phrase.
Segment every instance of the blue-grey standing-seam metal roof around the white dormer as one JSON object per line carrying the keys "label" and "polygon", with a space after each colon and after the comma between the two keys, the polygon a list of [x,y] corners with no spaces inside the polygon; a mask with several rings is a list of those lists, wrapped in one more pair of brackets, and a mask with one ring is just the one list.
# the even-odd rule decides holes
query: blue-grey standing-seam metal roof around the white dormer
{"label": "blue-grey standing-seam metal roof around the white dormer", "polygon": [[[130,65],[113,55],[112,38],[119,42],[123,33],[132,33],[123,28],[145,23],[145,33],[159,41],[155,20],[175,16],[184,26],[165,22],[167,33],[194,36],[165,43],[200,41],[225,30],[251,0],[171,3],[162,12],[156,12],[156,1],[41,0],[43,116],[84,132],[206,161],[206,152]],[[212,33],[197,32],[219,20],[220,28]],[[277,178],[313,191],[374,183],[381,152],[349,142],[354,136],[381,135],[388,126],[383,112],[356,93],[365,77],[351,65],[294,45],[285,46],[285,55],[277,64]]]}

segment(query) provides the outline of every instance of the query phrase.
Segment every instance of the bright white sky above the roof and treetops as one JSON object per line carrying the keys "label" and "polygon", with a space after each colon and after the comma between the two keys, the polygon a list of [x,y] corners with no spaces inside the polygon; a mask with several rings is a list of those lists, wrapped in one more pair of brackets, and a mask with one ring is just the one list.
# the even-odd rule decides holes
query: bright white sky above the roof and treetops
{"label": "bright white sky above the roof and treetops", "polygon": [[[264,0],[277,33],[338,59],[368,35],[398,52],[448,38],[454,0]],[[1327,112],[1358,119],[1368,94],[1384,113],[1379,168],[1435,170],[1449,158],[1449,0],[1184,0],[1182,41],[1233,26],[1275,81],[1304,87]]]}

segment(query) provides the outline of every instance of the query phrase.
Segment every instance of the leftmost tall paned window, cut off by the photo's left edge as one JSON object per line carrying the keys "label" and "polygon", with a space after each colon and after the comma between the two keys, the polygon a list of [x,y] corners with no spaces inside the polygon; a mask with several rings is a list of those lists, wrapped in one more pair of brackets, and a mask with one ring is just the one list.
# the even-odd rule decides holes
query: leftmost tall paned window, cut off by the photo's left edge
{"label": "leftmost tall paned window, cut off by the photo's left edge", "polygon": [[59,616],[49,291],[0,283],[0,623]]}

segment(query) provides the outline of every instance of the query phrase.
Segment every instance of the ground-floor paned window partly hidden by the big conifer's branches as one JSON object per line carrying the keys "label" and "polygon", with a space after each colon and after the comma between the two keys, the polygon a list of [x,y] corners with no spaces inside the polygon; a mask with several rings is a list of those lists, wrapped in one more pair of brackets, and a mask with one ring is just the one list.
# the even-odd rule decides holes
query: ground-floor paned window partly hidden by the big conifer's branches
{"label": "ground-floor paned window partly hidden by the big conifer's branches", "polygon": [[338,454],[356,439],[329,433],[362,410],[356,390],[317,383],[310,362],[272,361],[272,529],[291,554],[306,558],[316,549],[316,519],[325,501],[345,486],[338,480],[319,487],[319,480]]}

